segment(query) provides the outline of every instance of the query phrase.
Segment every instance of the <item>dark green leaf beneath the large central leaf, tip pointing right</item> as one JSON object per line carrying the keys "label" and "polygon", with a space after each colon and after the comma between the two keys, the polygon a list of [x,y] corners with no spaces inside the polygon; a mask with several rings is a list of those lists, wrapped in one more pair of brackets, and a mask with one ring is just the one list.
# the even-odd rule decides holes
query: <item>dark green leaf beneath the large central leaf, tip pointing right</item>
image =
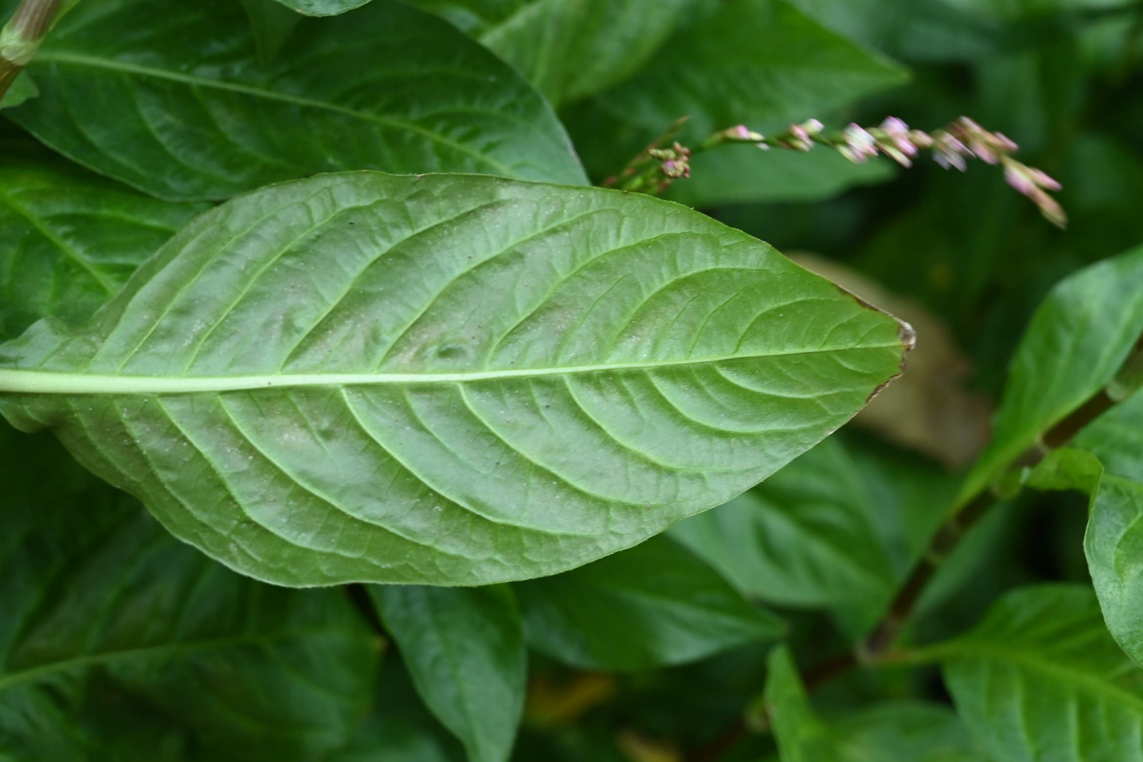
{"label": "dark green leaf beneath the large central leaf, tip pointing right", "polygon": [[665,537],[515,591],[528,643],[584,668],[681,664],[785,632]]}

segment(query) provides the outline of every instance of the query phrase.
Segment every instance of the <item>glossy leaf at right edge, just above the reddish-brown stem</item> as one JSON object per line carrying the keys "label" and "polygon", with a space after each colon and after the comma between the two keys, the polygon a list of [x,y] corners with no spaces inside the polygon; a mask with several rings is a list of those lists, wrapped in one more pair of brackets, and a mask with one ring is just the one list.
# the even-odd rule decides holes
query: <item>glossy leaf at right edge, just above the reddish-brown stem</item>
{"label": "glossy leaf at right edge, just above the reddish-brown stem", "polygon": [[1061,281],[1012,360],[992,441],[961,498],[985,489],[1053,425],[1114,378],[1143,334],[1143,247]]}

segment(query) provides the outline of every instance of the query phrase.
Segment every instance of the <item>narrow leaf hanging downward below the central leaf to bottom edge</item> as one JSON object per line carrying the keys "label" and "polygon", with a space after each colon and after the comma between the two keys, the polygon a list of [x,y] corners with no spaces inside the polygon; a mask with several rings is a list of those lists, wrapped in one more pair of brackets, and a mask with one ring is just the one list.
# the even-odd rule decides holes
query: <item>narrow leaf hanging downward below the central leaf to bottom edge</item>
{"label": "narrow leaf hanging downward below the central leaf to bottom edge", "polygon": [[370,585],[417,693],[470,762],[506,762],[528,671],[512,589]]}

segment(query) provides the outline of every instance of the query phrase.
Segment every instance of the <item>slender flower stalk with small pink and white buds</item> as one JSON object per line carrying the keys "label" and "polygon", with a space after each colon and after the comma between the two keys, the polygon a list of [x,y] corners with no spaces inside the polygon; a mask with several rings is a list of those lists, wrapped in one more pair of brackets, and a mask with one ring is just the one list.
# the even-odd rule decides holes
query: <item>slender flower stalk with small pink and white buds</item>
{"label": "slender flower stalk with small pink and white buds", "polygon": [[[822,122],[810,119],[769,136],[737,125],[714,133],[695,149],[674,141],[684,121],[672,125],[663,137],[636,157],[623,173],[608,178],[605,185],[641,193],[662,193],[674,181],[690,176],[690,158],[694,154],[735,143],[754,145],[762,151],[783,149],[802,153],[815,146],[825,146],[856,165],[886,155],[902,167],[912,167],[913,161],[928,151],[934,161],[945,169],[965,171],[974,159],[999,166],[1007,183],[1028,196],[1048,222],[1058,227],[1068,223],[1063,208],[1050,195],[1052,191],[1061,190],[1060,183],[1042,170],[1014,159],[1013,154],[1020,146],[1002,133],[989,131],[967,117],[933,133],[910,129],[896,117],[889,117],[878,127],[849,125],[837,131],[826,131]],[[668,144],[670,147],[665,147]]]}

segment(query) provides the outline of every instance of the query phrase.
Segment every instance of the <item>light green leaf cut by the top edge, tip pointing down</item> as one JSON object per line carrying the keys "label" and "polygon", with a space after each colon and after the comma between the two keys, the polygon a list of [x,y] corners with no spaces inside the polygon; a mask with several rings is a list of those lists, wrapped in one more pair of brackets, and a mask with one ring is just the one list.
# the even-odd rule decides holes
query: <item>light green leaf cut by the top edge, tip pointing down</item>
{"label": "light green leaf cut by the top edge, tip pointing down", "polygon": [[473,34],[553,103],[633,74],[697,0],[415,0]]}

